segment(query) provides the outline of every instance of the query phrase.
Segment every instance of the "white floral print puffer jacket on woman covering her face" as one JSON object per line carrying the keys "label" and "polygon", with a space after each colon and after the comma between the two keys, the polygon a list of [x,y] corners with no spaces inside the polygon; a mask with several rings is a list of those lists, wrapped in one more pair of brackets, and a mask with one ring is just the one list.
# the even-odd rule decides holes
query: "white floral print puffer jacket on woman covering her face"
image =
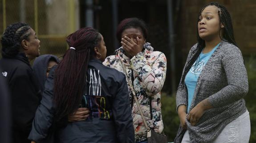
{"label": "white floral print puffer jacket on woman covering her face", "polygon": [[[145,43],[142,52],[130,59],[124,54],[123,48],[120,47],[115,50],[115,55],[107,57],[103,64],[125,73],[120,62],[122,60],[129,76],[128,79],[126,78],[126,81],[130,80],[134,86],[138,102],[148,126],[154,128],[154,131],[161,133],[163,131],[163,120],[160,92],[166,77],[167,60],[162,52],[153,50],[154,48],[150,43]],[[144,141],[146,140],[146,127],[133,99],[128,81],[127,84],[132,107],[135,142]],[[150,113],[150,108],[152,114]]]}

